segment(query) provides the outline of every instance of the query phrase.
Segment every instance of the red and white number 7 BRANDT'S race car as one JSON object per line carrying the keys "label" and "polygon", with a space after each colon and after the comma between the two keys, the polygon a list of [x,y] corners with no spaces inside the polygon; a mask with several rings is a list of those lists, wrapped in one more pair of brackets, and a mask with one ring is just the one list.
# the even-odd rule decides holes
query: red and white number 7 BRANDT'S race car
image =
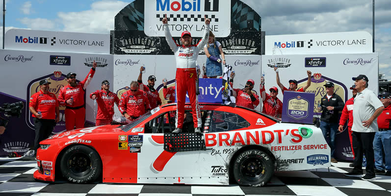
{"label": "red and white number 7 BRANDT'S race car", "polygon": [[40,142],[36,180],[73,183],[263,186],[275,170],[330,167],[330,147],[314,125],[283,123],[243,107],[200,104],[202,134],[185,105],[183,132],[176,104],[153,109],[127,125],[63,132]]}

